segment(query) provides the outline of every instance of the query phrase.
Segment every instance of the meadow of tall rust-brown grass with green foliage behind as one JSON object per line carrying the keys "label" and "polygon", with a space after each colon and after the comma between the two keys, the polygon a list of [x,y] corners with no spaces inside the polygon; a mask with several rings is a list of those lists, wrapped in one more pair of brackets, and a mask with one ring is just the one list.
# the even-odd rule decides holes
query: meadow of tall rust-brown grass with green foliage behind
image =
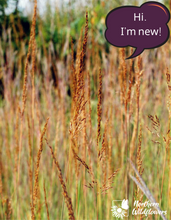
{"label": "meadow of tall rust-brown grass with green foliage behind", "polygon": [[125,60],[133,48],[104,37],[111,9],[143,2],[47,1],[42,14],[35,1],[26,15],[0,1],[0,219],[115,219],[126,198],[129,219],[162,219],[131,215],[148,199],[128,158],[171,219],[170,39]]}

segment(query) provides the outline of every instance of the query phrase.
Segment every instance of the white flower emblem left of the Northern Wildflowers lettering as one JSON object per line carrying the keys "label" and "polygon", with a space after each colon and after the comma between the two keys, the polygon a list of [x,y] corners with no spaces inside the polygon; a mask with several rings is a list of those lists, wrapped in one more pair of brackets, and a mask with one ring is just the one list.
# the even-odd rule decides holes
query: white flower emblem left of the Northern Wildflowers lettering
{"label": "white flower emblem left of the Northern Wildflowers lettering", "polygon": [[112,215],[116,218],[123,219],[129,216],[128,200],[113,200],[112,201]]}

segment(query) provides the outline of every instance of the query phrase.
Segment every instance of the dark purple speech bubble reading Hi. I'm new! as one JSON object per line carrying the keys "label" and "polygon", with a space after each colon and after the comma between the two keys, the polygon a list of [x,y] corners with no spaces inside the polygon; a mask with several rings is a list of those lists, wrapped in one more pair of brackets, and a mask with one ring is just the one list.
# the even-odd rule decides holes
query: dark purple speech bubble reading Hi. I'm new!
{"label": "dark purple speech bubble reading Hi. I'm new!", "polygon": [[159,47],[169,39],[169,10],[161,3],[147,2],[140,7],[122,6],[106,17],[106,40],[116,47],[135,47],[127,59],[140,55],[145,49]]}

